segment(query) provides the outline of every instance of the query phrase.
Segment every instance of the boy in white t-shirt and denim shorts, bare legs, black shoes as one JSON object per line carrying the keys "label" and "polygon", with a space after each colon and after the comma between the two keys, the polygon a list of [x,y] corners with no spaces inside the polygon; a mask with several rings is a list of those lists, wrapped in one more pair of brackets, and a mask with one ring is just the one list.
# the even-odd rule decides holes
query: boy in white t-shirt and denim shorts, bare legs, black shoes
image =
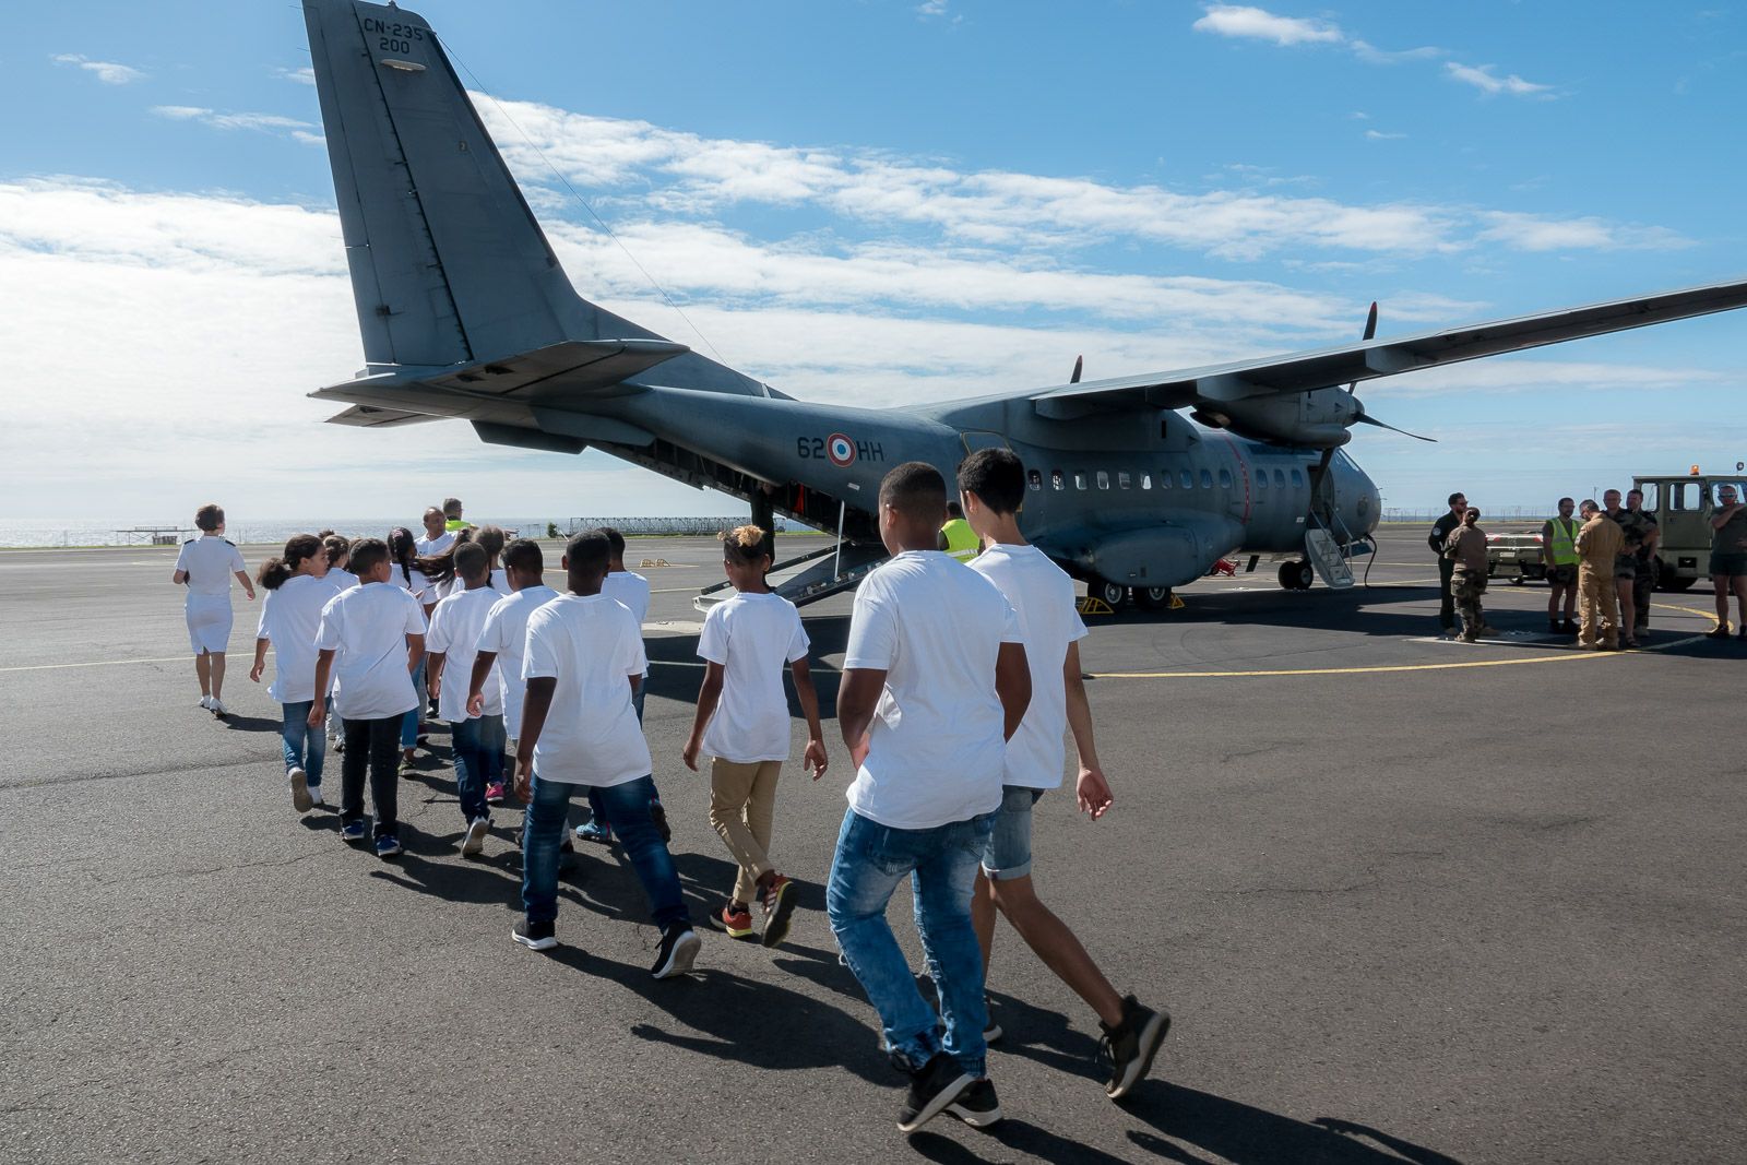
{"label": "boy in white t-shirt and denim shorts, bare legs, black shoes", "polygon": [[[1031,707],[1006,742],[1001,812],[984,849],[971,898],[971,920],[982,945],[984,973],[994,945],[996,910],[1006,915],[1025,945],[1097,1011],[1111,1060],[1104,1092],[1120,1100],[1153,1065],[1170,1031],[1170,1015],[1118,996],[1074,933],[1038,900],[1031,882],[1031,809],[1062,784],[1062,735],[1073,728],[1080,753],[1076,795],[1094,821],[1111,805],[1109,784],[1092,741],[1092,707],[1080,672],[1080,639],[1087,629],[1074,610],[1074,583],[1019,533],[1025,500],[1025,466],[1010,449],[978,449],[959,463],[964,517],[987,547],[970,568],[999,587],[1019,613],[1031,664]],[[985,1032],[999,1037],[1001,1029]]]}

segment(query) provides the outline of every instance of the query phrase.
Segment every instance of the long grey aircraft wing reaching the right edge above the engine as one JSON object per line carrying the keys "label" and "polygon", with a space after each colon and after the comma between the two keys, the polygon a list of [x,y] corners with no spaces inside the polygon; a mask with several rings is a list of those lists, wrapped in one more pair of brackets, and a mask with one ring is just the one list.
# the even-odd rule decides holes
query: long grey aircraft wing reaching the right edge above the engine
{"label": "long grey aircraft wing reaching the right edge above the engine", "polygon": [[1181,409],[1193,403],[1233,402],[1249,396],[1309,393],[1317,388],[1371,381],[1415,369],[1560,344],[1586,335],[1623,332],[1742,306],[1747,306],[1747,279],[1286,356],[1062,384],[1024,395],[1036,402],[1036,409],[1043,416],[1078,416],[1088,407]]}

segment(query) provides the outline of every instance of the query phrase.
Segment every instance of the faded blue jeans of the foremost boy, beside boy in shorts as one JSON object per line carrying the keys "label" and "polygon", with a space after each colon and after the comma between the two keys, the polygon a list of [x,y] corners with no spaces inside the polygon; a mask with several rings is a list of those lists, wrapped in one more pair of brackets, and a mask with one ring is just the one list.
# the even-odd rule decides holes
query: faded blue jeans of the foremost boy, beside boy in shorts
{"label": "faded blue jeans of the foremost boy, beside boy in shorts", "polygon": [[[971,887],[994,812],[950,821],[933,830],[891,830],[856,810],[844,814],[837,856],[825,887],[825,910],[844,961],[879,1011],[886,1046],[910,1071],[936,1051],[984,1076],[982,950],[971,929]],[[928,971],[940,994],[940,1017],[915,989],[910,964],[886,922],[886,903],[914,875],[915,929],[922,934]],[[940,1037],[945,1020],[945,1039]]]}

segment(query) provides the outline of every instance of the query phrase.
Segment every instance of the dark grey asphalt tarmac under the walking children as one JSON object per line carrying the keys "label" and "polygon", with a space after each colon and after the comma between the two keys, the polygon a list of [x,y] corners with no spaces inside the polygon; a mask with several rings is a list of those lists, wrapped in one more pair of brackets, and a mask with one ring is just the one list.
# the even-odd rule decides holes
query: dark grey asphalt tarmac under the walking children
{"label": "dark grey asphalt tarmac under the walking children", "polygon": [[[702,927],[732,868],[680,748],[720,566],[704,540],[645,557],[646,730]],[[1378,559],[1347,592],[1263,562],[1088,620],[1116,803],[1043,800],[1038,887],[1176,1027],[1109,1102],[1094,1015],[1005,931],[1006,1120],[905,1139],[823,915],[835,723],[825,779],[791,763],[777,798],[790,943],[701,929],[695,975],[652,982],[617,849],[564,872],[552,955],[510,941],[519,814],[459,856],[440,728],[400,784],[404,858],[299,817],[241,594],[218,721],[173,552],[0,552],[0,1160],[1747,1160],[1747,646],[1700,638],[1693,590],[1656,596],[1651,650],[1578,653],[1539,585],[1494,587],[1502,639],[1438,641],[1424,533]],[[826,706],[847,610],[804,611]]]}

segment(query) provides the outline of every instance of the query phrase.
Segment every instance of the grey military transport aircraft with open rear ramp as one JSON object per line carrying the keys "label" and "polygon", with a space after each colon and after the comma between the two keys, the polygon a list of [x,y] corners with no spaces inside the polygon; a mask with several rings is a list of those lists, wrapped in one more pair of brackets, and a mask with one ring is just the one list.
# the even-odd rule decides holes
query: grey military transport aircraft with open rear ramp
{"label": "grey military transport aircraft with open rear ramp", "polygon": [[[601,449],[839,534],[781,592],[853,587],[886,550],[900,461],[1025,463],[1025,536],[1113,606],[1169,603],[1221,557],[1291,555],[1281,583],[1350,585],[1377,486],[1342,449],[1378,424],[1357,381],[1747,304],[1747,281],[1398,339],[894,409],[795,400],[577,295],[430,24],[304,0],[367,367],[314,393],[339,424],[472,423],[486,442]],[[1183,410],[1188,410],[1184,416]]]}

